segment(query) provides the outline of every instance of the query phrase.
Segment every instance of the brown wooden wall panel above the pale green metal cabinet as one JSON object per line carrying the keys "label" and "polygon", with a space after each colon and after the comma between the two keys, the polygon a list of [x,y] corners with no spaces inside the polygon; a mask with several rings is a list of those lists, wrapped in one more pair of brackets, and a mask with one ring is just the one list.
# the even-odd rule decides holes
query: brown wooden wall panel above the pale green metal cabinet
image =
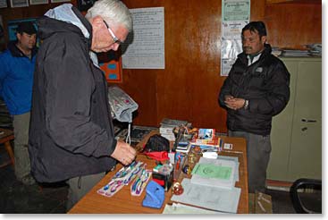
{"label": "brown wooden wall panel above the pale green metal cabinet", "polygon": [[274,47],[305,49],[322,42],[321,1],[267,4],[265,22],[268,42]]}

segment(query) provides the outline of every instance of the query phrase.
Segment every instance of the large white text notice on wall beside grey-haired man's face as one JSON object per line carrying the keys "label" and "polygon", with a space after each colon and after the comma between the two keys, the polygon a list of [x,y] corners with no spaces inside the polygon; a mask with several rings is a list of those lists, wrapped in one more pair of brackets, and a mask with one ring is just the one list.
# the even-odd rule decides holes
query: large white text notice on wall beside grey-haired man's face
{"label": "large white text notice on wall beside grey-haired man's face", "polygon": [[133,31],[122,45],[122,68],[164,69],[164,7],[130,9]]}

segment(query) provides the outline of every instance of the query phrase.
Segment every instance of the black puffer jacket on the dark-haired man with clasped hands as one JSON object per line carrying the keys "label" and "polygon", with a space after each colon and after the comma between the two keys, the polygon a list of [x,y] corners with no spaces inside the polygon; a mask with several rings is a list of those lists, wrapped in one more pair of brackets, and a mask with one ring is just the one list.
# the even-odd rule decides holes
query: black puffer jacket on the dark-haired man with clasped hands
{"label": "black puffer jacket on the dark-haired man with clasped hands", "polygon": [[[228,111],[229,130],[269,135],[273,115],[282,112],[290,100],[290,72],[271,51],[266,44],[259,60],[249,66],[247,55],[241,53],[224,80],[219,102]],[[226,95],[248,99],[248,109],[227,108]]]}

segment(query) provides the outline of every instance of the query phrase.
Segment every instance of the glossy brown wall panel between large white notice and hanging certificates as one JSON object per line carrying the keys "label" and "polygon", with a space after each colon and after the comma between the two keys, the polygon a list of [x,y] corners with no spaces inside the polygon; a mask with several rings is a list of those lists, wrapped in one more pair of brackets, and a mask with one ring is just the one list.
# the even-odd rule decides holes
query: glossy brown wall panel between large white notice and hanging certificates
{"label": "glossy brown wall panel between large white notice and hanging certificates", "polygon": [[217,128],[221,3],[179,1],[165,10],[166,74],[157,78],[158,120],[172,117]]}

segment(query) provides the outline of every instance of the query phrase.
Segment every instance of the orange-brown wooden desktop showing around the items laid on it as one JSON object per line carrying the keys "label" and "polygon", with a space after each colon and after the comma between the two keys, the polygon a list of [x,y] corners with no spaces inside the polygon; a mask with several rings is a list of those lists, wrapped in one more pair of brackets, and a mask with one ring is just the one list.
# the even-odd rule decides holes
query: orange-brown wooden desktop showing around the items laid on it
{"label": "orange-brown wooden desktop showing around the items laid on it", "polygon": [[[142,141],[141,144],[147,140]],[[226,143],[232,143],[231,150],[224,150],[220,155],[239,157],[240,162],[240,181],[236,182],[236,187],[241,188],[240,204],[238,213],[248,213],[248,171],[247,171],[247,157],[246,157],[246,140],[240,138],[223,137]],[[156,164],[154,160],[147,159],[143,155],[138,155],[137,160],[147,163],[147,169],[153,168]],[[124,186],[122,190],[114,194],[113,197],[105,197],[97,194],[97,190],[107,184],[114,173],[122,168],[122,165],[117,165],[114,172],[107,173],[105,177],[97,183],[97,185],[90,190],[86,196],[71,208],[69,214],[161,214],[164,210],[162,208],[143,207],[142,200],[146,195],[146,190],[142,192],[139,197],[130,195],[130,185]],[[172,193],[171,190],[165,192],[164,204],[170,202]]]}

